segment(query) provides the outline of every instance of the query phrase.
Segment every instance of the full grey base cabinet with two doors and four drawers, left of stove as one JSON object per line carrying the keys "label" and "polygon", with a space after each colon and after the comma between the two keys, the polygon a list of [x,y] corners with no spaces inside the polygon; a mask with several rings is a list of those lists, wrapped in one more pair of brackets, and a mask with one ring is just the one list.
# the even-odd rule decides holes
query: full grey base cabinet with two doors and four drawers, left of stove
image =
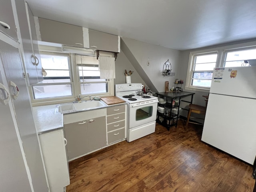
{"label": "full grey base cabinet with two doors and four drawers, left of stove", "polygon": [[126,138],[126,104],[64,114],[68,160],[74,160]]}

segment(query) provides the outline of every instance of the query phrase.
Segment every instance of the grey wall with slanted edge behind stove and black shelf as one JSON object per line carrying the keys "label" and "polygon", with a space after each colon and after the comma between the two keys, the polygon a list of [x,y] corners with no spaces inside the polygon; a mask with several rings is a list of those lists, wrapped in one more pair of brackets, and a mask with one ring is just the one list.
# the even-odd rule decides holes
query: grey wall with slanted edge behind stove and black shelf
{"label": "grey wall with slanted edge behind stove and black shelf", "polygon": [[[121,50],[136,70],[135,72],[141,76],[146,86],[148,86],[152,92],[164,92],[165,81],[169,81],[169,85],[172,86],[175,78],[180,79],[179,50],[124,37],[121,38]],[[147,66],[148,58],[150,60],[149,66]],[[175,76],[164,77],[162,76],[162,69],[168,59],[172,64],[172,70],[175,72]],[[119,80],[116,79],[115,82],[119,82]],[[134,82],[133,79],[132,82]]]}

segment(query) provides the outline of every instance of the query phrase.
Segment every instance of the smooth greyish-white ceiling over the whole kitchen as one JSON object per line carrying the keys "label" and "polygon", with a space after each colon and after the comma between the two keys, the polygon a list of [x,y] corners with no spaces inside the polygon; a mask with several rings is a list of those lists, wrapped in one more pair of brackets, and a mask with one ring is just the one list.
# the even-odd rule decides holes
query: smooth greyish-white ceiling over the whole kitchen
{"label": "smooth greyish-white ceiling over the whole kitchen", "polygon": [[34,16],[188,50],[256,38],[256,0],[26,0]]}

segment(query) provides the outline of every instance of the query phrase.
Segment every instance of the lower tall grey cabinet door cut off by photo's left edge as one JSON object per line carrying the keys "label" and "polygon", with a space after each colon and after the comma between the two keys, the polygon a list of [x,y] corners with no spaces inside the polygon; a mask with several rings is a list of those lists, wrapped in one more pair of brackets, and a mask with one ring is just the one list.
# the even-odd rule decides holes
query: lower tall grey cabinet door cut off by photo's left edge
{"label": "lower tall grey cabinet door cut off by photo's left edge", "polygon": [[[0,46],[3,42],[0,40]],[[0,53],[0,58],[1,58]],[[4,75],[4,69],[2,66],[2,60],[0,59],[0,84],[2,82],[2,76]],[[0,97],[2,97],[4,90],[0,88]],[[9,101],[7,105],[4,105],[0,100],[0,186],[1,191],[27,191],[30,192],[30,183],[22,158],[22,152],[20,150],[20,144],[18,142],[18,136],[16,133],[17,122],[11,110],[12,104]],[[18,128],[17,128],[18,129]],[[14,182],[15,181],[15,182]]]}

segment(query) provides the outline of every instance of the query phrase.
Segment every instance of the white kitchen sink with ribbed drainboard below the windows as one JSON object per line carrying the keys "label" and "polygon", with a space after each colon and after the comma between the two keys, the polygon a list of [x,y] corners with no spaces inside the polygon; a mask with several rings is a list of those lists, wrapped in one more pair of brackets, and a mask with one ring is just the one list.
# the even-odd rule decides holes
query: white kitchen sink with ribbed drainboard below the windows
{"label": "white kitchen sink with ribbed drainboard below the windows", "polygon": [[83,101],[83,102],[74,102],[74,103],[64,103],[57,105],[55,108],[55,113],[71,113],[76,111],[91,110],[96,108],[102,108],[107,106],[101,101]]}

